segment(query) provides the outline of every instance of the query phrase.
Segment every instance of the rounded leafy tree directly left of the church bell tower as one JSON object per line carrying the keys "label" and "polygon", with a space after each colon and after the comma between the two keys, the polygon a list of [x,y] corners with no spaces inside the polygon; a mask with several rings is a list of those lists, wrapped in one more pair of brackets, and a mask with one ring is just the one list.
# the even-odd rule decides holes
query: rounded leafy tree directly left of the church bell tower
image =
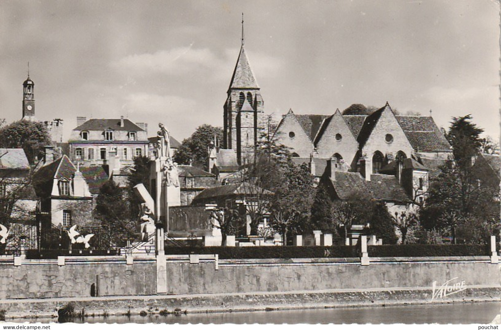
{"label": "rounded leafy tree directly left of the church bell tower", "polygon": [[206,169],[209,144],[214,141],[214,136],[220,143],[222,133],[221,127],[208,124],[197,127],[190,137],[182,141],[181,146],[174,153],[174,161],[186,165],[192,163],[193,166]]}

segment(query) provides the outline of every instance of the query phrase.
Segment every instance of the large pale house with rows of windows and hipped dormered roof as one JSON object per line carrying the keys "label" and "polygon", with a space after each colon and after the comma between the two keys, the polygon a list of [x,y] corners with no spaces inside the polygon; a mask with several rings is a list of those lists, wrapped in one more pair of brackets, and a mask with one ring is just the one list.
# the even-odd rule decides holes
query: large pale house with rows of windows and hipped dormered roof
{"label": "large pale house with rows of windows and hipped dormered roof", "polygon": [[118,157],[123,166],[131,166],[135,156],[148,155],[146,123],[119,119],[77,117],[78,126],[69,139],[70,159],[83,166],[110,166]]}

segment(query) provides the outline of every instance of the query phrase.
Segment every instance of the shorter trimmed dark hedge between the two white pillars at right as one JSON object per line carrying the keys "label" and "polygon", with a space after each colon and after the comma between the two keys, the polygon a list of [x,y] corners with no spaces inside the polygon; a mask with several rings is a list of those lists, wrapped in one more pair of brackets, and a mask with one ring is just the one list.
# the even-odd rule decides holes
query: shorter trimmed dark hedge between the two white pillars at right
{"label": "shorter trimmed dark hedge between the two white pillars at right", "polygon": [[487,256],[488,244],[406,244],[406,245],[369,245],[369,257],[449,257],[449,256]]}

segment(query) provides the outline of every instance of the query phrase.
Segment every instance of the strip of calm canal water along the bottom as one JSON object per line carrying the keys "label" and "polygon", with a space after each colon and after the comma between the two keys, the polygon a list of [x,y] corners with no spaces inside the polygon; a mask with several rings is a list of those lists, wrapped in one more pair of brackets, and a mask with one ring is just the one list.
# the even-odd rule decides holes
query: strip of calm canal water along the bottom
{"label": "strip of calm canal water along the bottom", "polygon": [[[272,310],[230,313],[193,313],[182,315],[86,317],[83,323],[372,323],[372,324],[470,324],[490,323],[499,314],[501,302],[470,302],[453,304],[404,305],[387,307],[356,307],[301,310]],[[25,320],[26,321],[26,320]],[[38,319],[37,321],[42,321]]]}

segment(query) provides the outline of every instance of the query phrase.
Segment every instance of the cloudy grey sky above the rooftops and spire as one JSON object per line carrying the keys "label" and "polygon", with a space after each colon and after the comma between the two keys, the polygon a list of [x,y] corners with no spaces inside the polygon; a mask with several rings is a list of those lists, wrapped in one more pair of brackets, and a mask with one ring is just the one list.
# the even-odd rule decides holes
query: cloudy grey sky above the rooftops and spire
{"label": "cloudy grey sky above the rooftops and spire", "polygon": [[0,0],[0,118],[163,122],[179,140],[222,126],[245,50],[267,113],[332,114],[352,103],[420,112],[448,127],[471,113],[499,136],[499,5],[470,1]]}

